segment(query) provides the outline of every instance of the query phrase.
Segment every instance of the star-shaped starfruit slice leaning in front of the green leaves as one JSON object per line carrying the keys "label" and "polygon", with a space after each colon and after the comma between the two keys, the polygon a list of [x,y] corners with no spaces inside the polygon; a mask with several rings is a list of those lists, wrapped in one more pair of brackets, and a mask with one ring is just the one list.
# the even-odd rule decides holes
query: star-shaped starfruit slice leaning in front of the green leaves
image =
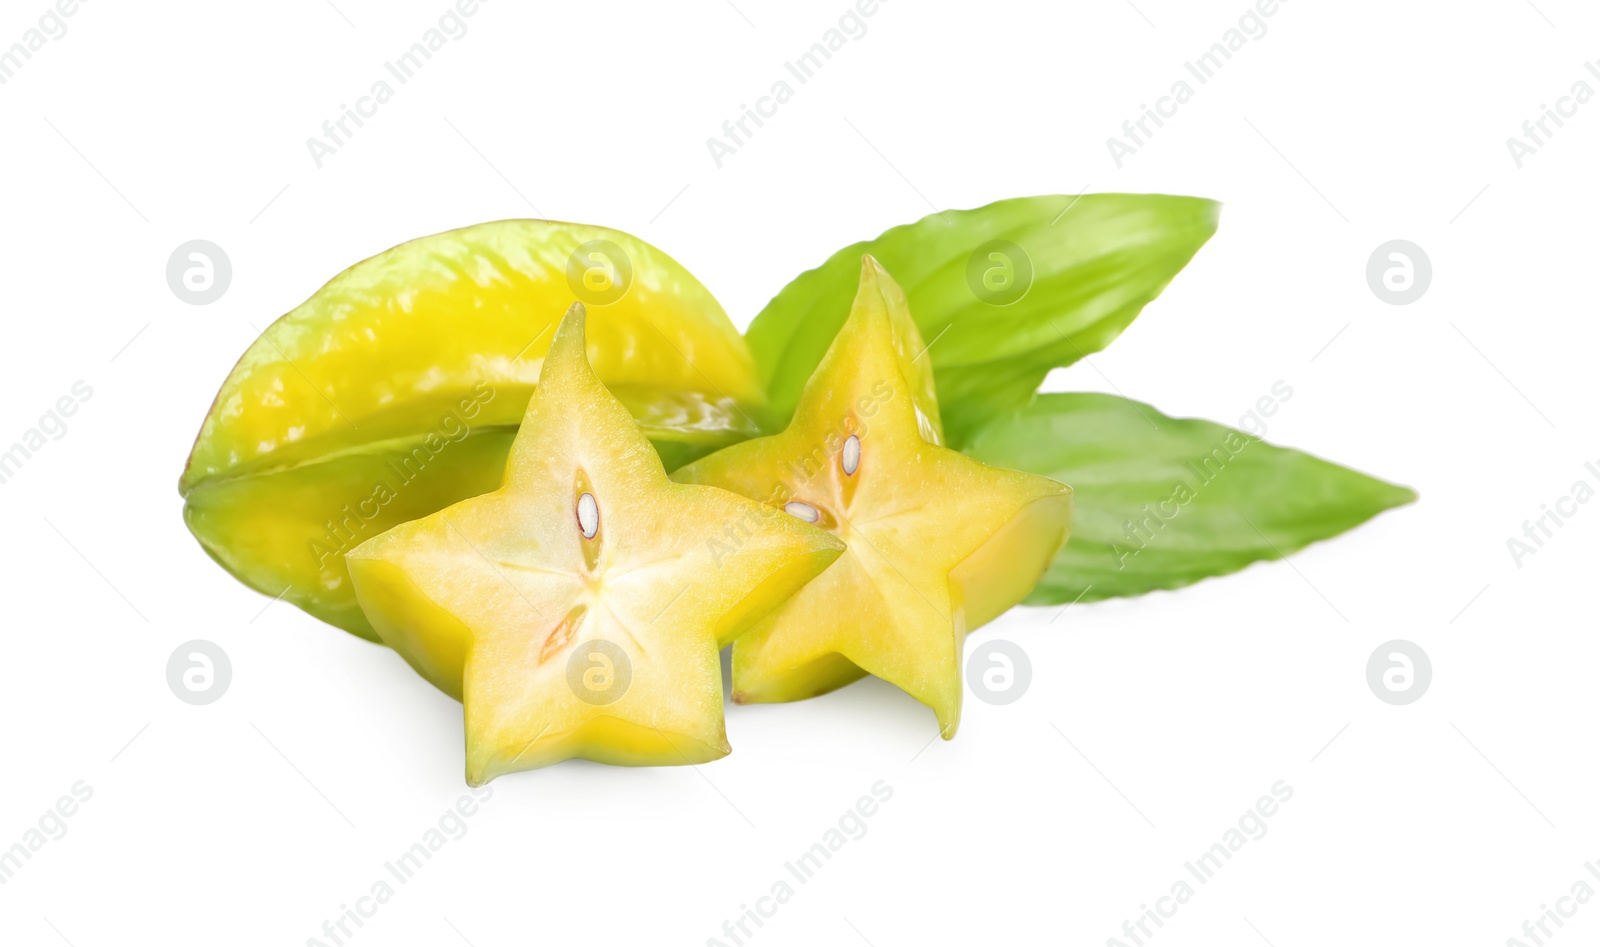
{"label": "star-shaped starfruit slice leaning in front of the green leaves", "polygon": [[1067,539],[1072,489],[939,443],[925,346],[870,256],[789,427],[674,473],[816,523],[848,549],[733,645],[733,699],[795,701],[866,673],[962,712],[966,633],[1021,601]]}

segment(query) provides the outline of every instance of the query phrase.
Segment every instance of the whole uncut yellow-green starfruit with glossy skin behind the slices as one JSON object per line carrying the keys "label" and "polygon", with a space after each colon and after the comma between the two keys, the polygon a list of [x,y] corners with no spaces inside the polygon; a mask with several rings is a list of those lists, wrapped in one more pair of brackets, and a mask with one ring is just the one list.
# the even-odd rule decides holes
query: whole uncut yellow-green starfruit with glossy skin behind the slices
{"label": "whole uncut yellow-green starfruit with glossy skin behind the slices", "polygon": [[595,371],[669,464],[757,432],[749,349],[672,258],[605,227],[480,224],[355,264],[267,328],[179,480],[189,529],[246,585],[376,640],[342,553],[499,485],[579,296],[605,301]]}

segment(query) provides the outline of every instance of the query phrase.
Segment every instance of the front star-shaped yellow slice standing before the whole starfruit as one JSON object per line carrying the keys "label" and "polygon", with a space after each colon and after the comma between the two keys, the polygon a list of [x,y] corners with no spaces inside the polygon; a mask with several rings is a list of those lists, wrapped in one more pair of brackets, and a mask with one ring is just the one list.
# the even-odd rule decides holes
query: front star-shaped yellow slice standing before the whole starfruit
{"label": "front star-shaped yellow slice standing before the whole starfruit", "polygon": [[482,785],[573,757],[726,755],[720,643],[842,550],[742,496],[670,481],[590,370],[574,304],[504,486],[347,558],[384,643],[466,705],[467,782]]}

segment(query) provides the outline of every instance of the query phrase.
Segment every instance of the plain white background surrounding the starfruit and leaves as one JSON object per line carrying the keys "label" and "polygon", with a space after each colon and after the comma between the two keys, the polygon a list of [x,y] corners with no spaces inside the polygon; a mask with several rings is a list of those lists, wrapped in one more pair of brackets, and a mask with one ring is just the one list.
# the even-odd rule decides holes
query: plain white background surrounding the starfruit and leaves
{"label": "plain white background surrounding the starfruit and leaves", "polygon": [[[1237,422],[1283,379],[1269,440],[1421,502],[1176,593],[1013,611],[974,643],[1021,643],[1032,689],[968,701],[920,757],[933,715],[866,681],[730,709],[734,753],[704,768],[501,779],[347,942],[731,944],[723,921],[875,781],[894,797],[867,835],[747,942],[1106,944],[1280,779],[1269,833],[1149,942],[1506,944],[1600,888],[1600,504],[1522,568],[1506,547],[1600,461],[1600,102],[1522,170],[1506,147],[1576,80],[1600,88],[1592,5],[1285,3],[1118,170],[1107,136],[1245,0],[891,0],[718,170],[706,139],[846,11],[733,2],[485,3],[320,170],[306,139],[445,0],[93,0],[0,86],[0,442],[94,390],[0,486],[0,848],[94,790],[0,886],[0,941],[306,944],[464,792],[459,705],[262,611],[182,526],[178,473],[253,326],[400,240],[547,214],[662,246],[742,328],[853,240],[1083,189],[1226,210],[1050,387]],[[5,0],[0,45],[45,8]],[[165,280],[192,238],[234,262],[206,307]],[[1390,238],[1432,258],[1416,304],[1366,285]],[[208,707],[165,680],[190,638],[234,662]],[[1390,638],[1432,656],[1408,707],[1365,681]],[[1590,904],[1555,942],[1597,936]]]}

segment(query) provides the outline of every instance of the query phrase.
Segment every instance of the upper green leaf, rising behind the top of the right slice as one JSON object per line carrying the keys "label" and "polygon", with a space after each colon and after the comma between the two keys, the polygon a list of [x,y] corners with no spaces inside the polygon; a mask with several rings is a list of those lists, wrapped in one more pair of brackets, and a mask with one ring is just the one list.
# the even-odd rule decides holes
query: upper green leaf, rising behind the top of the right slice
{"label": "upper green leaf, rising behind the top of the right slice", "polygon": [[794,414],[845,323],[866,253],[906,290],[946,434],[960,446],[1027,403],[1051,368],[1109,346],[1216,232],[1218,211],[1216,202],[1158,194],[1021,197],[846,246],[750,323],[774,416]]}

